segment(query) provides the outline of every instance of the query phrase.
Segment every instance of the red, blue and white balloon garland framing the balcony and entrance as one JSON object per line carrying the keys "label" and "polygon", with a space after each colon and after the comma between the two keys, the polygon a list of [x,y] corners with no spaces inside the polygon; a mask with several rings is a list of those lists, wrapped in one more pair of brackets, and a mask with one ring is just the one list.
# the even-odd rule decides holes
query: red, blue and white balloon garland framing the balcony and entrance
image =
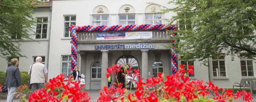
{"label": "red, blue and white balloon garland framing the balcony and entrance", "polygon": [[[175,31],[178,26],[176,24],[131,24],[131,25],[88,25],[88,26],[76,26],[72,25],[71,27],[68,27],[69,31],[72,32],[71,37],[71,75],[73,72],[73,69],[77,65],[77,32],[81,31],[134,31],[134,30],[172,30]],[[172,33],[170,36],[174,37],[177,35],[176,33]],[[177,73],[177,53],[174,50],[174,43],[177,40],[174,40],[171,38],[171,51],[172,51],[172,73]]]}

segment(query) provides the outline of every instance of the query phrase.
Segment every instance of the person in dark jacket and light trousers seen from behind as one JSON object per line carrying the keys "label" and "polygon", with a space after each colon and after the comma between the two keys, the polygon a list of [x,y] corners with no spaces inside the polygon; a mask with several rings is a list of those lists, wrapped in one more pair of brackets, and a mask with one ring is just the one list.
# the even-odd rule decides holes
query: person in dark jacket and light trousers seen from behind
{"label": "person in dark jacket and light trousers seen from behind", "polygon": [[7,102],[12,102],[14,93],[16,93],[17,87],[21,86],[20,70],[18,67],[18,59],[11,59],[11,66],[6,70],[6,81],[5,85],[8,89]]}

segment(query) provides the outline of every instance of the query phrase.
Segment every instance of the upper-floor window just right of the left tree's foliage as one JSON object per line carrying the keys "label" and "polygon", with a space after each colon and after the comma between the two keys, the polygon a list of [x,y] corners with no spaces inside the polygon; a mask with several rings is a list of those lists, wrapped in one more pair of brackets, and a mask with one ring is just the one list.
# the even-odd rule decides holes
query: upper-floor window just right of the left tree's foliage
{"label": "upper-floor window just right of the left tree's foliage", "polygon": [[36,24],[36,33],[40,33],[40,35],[36,35],[36,39],[44,39],[47,36],[47,22],[48,18],[37,18]]}

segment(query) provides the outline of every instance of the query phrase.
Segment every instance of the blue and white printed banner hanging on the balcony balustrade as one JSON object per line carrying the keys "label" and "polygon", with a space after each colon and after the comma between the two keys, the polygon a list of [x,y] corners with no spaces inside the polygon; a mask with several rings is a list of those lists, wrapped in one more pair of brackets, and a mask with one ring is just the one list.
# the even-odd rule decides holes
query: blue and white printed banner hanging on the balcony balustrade
{"label": "blue and white printed banner hanging on the balcony balustrade", "polygon": [[125,33],[97,33],[97,40],[152,39],[152,31]]}

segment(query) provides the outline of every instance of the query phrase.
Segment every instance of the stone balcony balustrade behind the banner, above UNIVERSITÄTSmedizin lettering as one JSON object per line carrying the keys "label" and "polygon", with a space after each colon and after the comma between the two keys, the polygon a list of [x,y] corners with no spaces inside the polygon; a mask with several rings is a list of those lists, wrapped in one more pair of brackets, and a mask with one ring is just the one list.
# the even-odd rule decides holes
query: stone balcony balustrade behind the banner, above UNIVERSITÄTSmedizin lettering
{"label": "stone balcony balustrade behind the banner, above UNIVERSIT\u00c4TSmedizin lettering", "polygon": [[[141,30],[143,31],[152,31],[152,30]],[[125,32],[138,32],[138,31],[84,31],[77,33],[77,41],[78,42],[86,42],[86,41],[96,41],[97,40],[97,33],[125,33]],[[142,40],[170,40],[167,38],[168,32],[164,30],[154,30],[152,31],[152,39],[142,39]]]}

